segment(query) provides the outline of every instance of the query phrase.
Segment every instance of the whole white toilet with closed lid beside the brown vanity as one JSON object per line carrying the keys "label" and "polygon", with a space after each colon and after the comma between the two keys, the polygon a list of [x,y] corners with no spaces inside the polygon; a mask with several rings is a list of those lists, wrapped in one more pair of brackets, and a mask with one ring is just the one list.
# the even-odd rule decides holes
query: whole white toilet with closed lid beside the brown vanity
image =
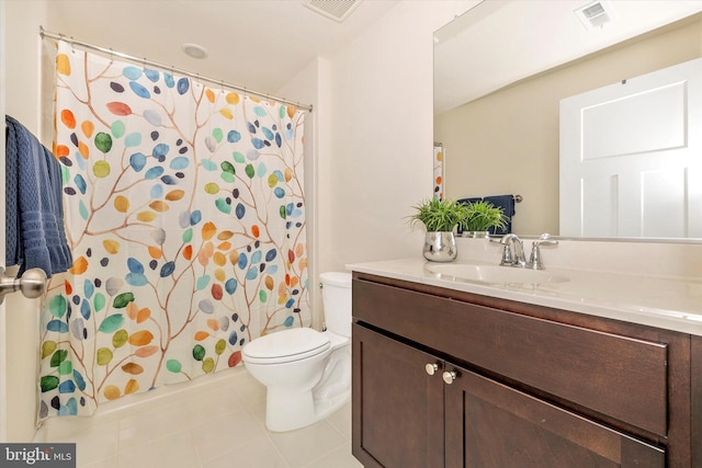
{"label": "whole white toilet with closed lid beside the brown vanity", "polygon": [[285,432],[317,422],[351,398],[351,274],[319,275],[327,330],[294,328],[241,350],[247,370],[267,387],[265,426]]}

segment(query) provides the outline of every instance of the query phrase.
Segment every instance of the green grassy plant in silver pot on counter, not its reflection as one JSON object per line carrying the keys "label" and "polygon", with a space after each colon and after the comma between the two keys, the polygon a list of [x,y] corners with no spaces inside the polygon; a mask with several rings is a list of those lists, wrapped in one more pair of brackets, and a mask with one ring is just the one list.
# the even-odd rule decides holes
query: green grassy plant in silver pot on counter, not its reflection
{"label": "green grassy plant in silver pot on counter, not its reflection", "polygon": [[454,230],[467,220],[468,207],[446,198],[426,199],[415,205],[409,217],[411,227],[417,224],[427,229],[422,254],[432,262],[451,262],[456,258]]}

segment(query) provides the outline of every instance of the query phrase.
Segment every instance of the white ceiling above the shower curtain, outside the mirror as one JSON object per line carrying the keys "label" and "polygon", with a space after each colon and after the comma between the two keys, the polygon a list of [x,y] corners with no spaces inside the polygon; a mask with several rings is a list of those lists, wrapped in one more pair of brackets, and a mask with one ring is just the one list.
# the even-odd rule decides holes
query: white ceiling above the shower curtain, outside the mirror
{"label": "white ceiling above the shower curtain, outside the mirror", "polygon": [[[14,0],[21,1],[21,0]],[[49,0],[44,28],[256,91],[275,92],[400,0],[358,0],[343,22],[303,0]],[[194,43],[208,52],[182,52]],[[292,96],[291,96],[292,98]]]}

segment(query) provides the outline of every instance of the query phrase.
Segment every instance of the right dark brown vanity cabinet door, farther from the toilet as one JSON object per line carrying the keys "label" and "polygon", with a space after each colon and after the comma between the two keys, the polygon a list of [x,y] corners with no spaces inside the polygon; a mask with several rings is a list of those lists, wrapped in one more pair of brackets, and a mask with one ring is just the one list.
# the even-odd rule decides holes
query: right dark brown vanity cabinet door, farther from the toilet
{"label": "right dark brown vanity cabinet door, farther from the toilet", "polygon": [[446,467],[664,468],[664,450],[477,374],[445,387]]}

